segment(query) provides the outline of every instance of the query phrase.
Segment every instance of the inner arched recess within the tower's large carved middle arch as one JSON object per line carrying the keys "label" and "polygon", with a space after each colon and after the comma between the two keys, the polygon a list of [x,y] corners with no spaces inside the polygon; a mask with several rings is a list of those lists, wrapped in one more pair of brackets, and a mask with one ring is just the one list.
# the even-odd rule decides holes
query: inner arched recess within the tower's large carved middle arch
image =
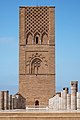
{"label": "inner arched recess within the tower's large carved middle arch", "polygon": [[41,66],[41,60],[35,58],[31,63],[31,74],[39,74],[39,67]]}

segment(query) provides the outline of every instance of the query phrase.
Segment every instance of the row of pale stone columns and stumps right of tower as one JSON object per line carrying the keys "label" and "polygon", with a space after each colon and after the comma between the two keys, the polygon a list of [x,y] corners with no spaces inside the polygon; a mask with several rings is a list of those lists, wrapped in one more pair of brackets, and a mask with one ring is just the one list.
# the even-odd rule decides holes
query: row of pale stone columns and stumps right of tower
{"label": "row of pale stone columns and stumps right of tower", "polygon": [[49,108],[54,110],[80,110],[80,93],[78,81],[71,81],[71,94],[67,87],[49,99]]}

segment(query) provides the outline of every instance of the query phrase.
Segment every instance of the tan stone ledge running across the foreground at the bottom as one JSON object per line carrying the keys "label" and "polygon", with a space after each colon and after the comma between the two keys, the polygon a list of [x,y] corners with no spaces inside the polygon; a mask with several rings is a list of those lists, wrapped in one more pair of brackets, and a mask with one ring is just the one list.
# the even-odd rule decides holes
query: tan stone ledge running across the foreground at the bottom
{"label": "tan stone ledge running across the foreground at the bottom", "polygon": [[1,111],[0,120],[80,120],[80,111]]}

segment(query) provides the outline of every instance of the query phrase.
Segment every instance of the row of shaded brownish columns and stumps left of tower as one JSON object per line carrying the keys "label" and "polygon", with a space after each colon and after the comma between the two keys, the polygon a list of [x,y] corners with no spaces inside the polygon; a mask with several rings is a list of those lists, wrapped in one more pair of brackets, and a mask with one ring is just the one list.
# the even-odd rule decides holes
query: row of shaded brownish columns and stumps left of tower
{"label": "row of shaded brownish columns and stumps left of tower", "polygon": [[24,109],[25,101],[19,94],[9,95],[9,91],[0,91],[0,110]]}

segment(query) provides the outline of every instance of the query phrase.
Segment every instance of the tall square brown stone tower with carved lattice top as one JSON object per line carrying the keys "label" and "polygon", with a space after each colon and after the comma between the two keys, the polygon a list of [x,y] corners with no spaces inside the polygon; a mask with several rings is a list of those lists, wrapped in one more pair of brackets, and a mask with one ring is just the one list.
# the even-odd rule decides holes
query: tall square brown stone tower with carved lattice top
{"label": "tall square brown stone tower with carved lattice top", "polygon": [[55,94],[55,7],[20,7],[19,93],[28,107]]}

